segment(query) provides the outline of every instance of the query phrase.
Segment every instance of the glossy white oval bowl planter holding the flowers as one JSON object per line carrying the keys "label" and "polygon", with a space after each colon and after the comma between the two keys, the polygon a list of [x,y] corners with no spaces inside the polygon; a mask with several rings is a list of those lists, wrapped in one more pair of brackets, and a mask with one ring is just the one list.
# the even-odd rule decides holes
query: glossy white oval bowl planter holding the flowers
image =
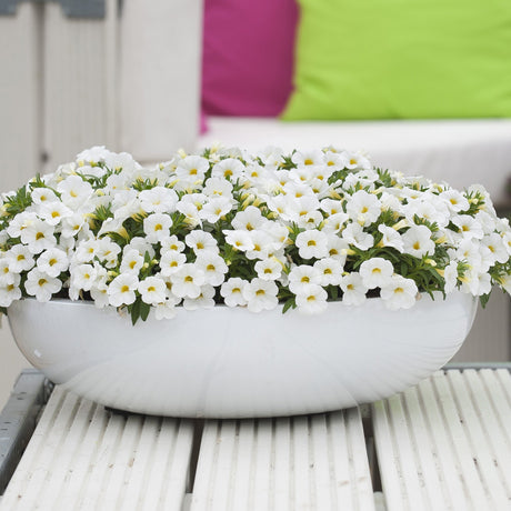
{"label": "glossy white oval bowl planter holding the flowers", "polygon": [[427,294],[410,310],[381,299],[324,313],[216,307],[138,322],[113,308],[16,301],[9,322],[27,359],[104,405],[174,417],[314,413],[374,401],[441,368],[460,348],[474,297]]}

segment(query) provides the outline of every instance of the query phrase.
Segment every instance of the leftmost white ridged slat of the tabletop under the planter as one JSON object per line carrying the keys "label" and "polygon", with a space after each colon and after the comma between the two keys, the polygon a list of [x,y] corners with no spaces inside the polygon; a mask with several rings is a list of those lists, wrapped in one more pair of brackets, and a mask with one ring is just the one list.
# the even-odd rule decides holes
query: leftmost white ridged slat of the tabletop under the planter
{"label": "leftmost white ridged slat of the tabletop under the planter", "polygon": [[179,511],[192,440],[190,421],[111,414],[56,388],[0,509]]}

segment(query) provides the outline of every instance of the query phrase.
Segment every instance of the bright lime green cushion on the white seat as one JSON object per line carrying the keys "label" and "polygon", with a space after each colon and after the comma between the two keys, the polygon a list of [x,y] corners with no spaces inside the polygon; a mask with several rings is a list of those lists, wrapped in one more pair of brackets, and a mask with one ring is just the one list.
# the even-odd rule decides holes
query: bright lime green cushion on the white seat
{"label": "bright lime green cushion on the white seat", "polygon": [[511,117],[511,0],[298,0],[282,118]]}

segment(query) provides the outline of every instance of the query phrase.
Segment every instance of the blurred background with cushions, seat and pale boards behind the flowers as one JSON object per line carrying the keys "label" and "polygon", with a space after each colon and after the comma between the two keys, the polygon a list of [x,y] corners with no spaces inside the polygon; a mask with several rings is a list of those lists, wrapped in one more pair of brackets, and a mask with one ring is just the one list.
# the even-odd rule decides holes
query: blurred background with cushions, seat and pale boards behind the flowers
{"label": "blurred background with cushions, seat and pale boards behind the flowers", "polygon": [[[0,191],[84,148],[362,150],[511,210],[501,0],[0,0]],[[510,360],[494,292],[460,361]],[[28,365],[3,319],[0,407]]]}

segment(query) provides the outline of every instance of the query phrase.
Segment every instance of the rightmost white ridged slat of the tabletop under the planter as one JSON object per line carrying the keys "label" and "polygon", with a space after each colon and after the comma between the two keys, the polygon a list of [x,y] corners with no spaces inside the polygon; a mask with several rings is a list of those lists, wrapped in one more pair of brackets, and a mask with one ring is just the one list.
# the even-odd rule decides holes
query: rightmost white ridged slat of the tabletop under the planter
{"label": "rightmost white ridged slat of the tabletop under the planter", "polygon": [[507,370],[438,372],[373,404],[387,509],[511,507]]}

